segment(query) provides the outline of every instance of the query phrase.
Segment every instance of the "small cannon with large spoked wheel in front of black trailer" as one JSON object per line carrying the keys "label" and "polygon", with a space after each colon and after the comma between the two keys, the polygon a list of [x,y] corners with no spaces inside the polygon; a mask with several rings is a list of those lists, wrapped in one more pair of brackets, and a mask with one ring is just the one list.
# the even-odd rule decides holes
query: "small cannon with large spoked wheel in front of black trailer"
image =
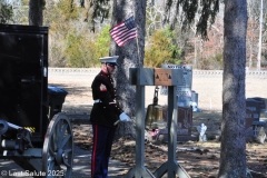
{"label": "small cannon with large spoked wheel in front of black trailer", "polygon": [[31,138],[32,132],[28,128],[0,120],[0,158],[12,159],[24,170],[36,172],[37,177],[41,172],[44,177],[55,175],[70,178],[73,135],[67,116],[63,113],[53,116],[42,148],[33,147]]}

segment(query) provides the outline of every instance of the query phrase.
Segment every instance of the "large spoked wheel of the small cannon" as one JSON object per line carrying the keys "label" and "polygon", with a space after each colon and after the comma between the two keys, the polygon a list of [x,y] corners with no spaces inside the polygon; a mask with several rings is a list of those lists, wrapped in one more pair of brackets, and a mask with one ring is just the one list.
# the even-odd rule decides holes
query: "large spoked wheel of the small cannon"
{"label": "large spoked wheel of the small cannon", "polygon": [[68,117],[57,113],[51,119],[42,148],[42,170],[47,178],[71,177],[73,134]]}

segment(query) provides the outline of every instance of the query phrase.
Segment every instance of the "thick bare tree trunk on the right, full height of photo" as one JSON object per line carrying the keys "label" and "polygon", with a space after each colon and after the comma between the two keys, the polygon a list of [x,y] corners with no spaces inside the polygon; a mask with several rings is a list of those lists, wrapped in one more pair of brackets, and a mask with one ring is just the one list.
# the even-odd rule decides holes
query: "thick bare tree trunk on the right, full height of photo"
{"label": "thick bare tree trunk on the right, full height of photo", "polygon": [[247,1],[225,0],[220,178],[246,178]]}

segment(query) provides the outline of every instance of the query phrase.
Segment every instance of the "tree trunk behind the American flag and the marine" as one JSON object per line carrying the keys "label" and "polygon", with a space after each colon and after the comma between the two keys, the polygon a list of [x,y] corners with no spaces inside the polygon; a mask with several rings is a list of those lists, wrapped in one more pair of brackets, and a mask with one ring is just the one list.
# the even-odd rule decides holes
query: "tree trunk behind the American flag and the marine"
{"label": "tree trunk behind the American flag and the marine", "polygon": [[[145,24],[146,0],[113,0],[111,27],[135,17],[138,38],[118,47],[112,40],[110,56],[118,55],[118,70],[116,72],[118,101],[125,112],[135,120],[136,117],[136,86],[129,85],[129,68],[138,68],[144,65],[145,56]],[[134,125],[121,122],[118,128],[119,136],[134,136]]]}

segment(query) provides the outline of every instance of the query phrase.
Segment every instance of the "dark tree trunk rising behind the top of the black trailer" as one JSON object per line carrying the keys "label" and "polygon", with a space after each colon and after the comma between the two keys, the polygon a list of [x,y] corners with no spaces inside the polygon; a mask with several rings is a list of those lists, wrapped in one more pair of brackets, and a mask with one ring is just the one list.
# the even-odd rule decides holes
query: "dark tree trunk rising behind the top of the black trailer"
{"label": "dark tree trunk rising behind the top of the black trailer", "polygon": [[29,1],[29,24],[42,26],[42,4],[43,0]]}

